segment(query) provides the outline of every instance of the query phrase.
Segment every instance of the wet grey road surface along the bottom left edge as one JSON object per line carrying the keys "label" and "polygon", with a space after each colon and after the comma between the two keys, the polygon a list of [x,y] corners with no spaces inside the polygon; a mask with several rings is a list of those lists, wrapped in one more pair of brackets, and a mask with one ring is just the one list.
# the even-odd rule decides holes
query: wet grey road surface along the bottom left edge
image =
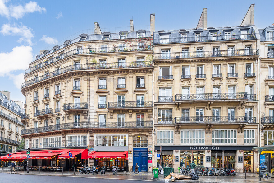
{"label": "wet grey road surface along the bottom left edge", "polygon": [[[85,176],[85,175],[84,175]],[[17,174],[7,174],[7,173],[0,173],[0,182],[18,182],[18,183],[55,183],[55,182],[98,182],[98,183],[152,183],[152,181],[148,180],[135,180],[136,178],[134,176],[127,177],[126,179],[118,178],[118,175],[116,176],[117,179],[111,179],[103,177],[100,175],[101,178],[90,178],[90,176],[85,176],[89,178],[82,177],[72,177],[72,176],[44,176],[44,175],[17,175]],[[139,179],[141,177],[138,177]]]}

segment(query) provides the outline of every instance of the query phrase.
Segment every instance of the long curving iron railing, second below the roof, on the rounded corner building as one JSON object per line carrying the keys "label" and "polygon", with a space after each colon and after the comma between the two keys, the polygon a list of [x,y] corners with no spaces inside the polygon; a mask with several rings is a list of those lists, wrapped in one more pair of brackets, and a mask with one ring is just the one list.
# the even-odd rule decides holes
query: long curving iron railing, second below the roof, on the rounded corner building
{"label": "long curving iron railing, second below the roof, on the rounded corner building", "polygon": [[113,68],[142,68],[142,67],[152,67],[153,61],[139,61],[139,62],[115,62],[115,63],[89,63],[89,64],[79,64],[70,65],[59,70],[53,71],[51,73],[36,77],[32,80],[26,81],[22,84],[22,87],[29,86],[31,84],[43,81],[45,79],[55,77],[62,73],[75,70],[93,70],[93,69],[113,69]]}

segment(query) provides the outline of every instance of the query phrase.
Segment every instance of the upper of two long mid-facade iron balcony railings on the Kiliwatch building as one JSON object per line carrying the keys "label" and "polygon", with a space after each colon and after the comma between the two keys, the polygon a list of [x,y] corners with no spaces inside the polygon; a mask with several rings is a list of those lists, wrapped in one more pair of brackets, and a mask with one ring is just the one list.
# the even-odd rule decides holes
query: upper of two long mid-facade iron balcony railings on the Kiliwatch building
{"label": "upper of two long mid-facade iron balcony railings on the Kiliwatch building", "polygon": [[247,93],[176,94],[175,101],[248,99]]}

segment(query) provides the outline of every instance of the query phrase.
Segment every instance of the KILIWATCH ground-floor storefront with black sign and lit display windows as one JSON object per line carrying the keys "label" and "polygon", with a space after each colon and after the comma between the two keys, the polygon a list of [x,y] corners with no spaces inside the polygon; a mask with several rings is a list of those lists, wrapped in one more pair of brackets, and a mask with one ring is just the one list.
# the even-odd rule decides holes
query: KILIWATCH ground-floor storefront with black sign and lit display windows
{"label": "KILIWATCH ground-floor storefront with black sign and lit display windows", "polygon": [[[242,173],[244,170],[253,173],[258,167],[257,152],[254,146],[155,146],[154,157],[160,154],[160,159],[154,158],[154,166],[162,165],[163,159],[173,155],[174,168],[189,167],[192,161],[197,167],[232,168]],[[217,158],[216,158],[217,156]]]}

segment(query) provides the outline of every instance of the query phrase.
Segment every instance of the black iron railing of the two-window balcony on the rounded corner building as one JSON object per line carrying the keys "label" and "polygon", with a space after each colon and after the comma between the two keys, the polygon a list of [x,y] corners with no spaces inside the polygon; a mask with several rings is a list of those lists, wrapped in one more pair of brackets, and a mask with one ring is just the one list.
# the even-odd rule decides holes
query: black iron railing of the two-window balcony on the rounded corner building
{"label": "black iron railing of the two-window balcony on the rounded corner building", "polygon": [[153,101],[108,102],[108,108],[153,107]]}

